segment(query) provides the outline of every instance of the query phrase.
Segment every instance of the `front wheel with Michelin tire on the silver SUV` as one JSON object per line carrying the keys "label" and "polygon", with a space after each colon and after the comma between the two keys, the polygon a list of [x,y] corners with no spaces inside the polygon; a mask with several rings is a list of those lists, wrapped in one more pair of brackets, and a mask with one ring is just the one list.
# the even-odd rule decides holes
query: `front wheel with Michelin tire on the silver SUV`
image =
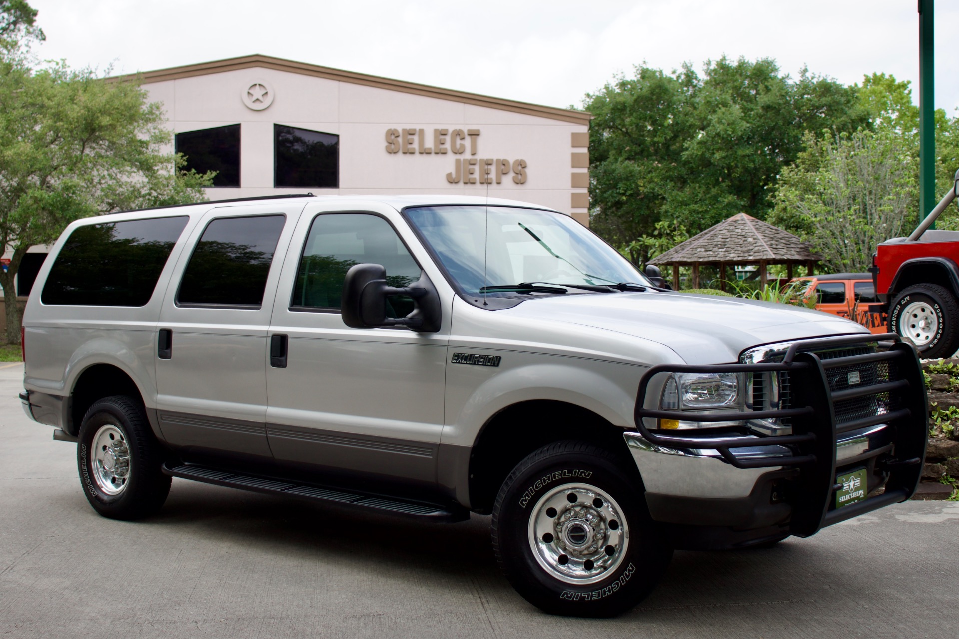
{"label": "front wheel with Michelin tire on the silver SUV", "polygon": [[643,503],[628,458],[581,441],[533,452],[506,478],[493,547],[506,578],[551,614],[609,617],[652,591],[672,549]]}

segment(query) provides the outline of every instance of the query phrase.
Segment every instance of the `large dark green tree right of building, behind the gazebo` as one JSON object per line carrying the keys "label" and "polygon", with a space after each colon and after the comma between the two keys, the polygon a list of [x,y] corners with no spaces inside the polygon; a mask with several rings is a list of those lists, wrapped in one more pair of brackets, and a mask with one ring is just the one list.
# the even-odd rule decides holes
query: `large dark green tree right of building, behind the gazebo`
{"label": "large dark green tree right of building, behind the gazebo", "polygon": [[652,237],[661,221],[694,234],[740,212],[764,219],[808,130],[869,122],[854,88],[805,69],[792,80],[771,59],[724,57],[701,75],[640,65],[584,107],[595,116],[591,225],[620,248]]}

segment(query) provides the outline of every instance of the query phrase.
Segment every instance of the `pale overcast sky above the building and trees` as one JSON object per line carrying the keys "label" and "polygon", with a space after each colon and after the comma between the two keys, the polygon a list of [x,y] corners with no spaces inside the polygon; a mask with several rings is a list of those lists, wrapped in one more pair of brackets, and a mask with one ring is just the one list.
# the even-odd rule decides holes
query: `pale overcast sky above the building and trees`
{"label": "pale overcast sky above the building and trees", "polygon": [[[884,72],[918,101],[916,0],[31,0],[71,66],[152,71],[263,54],[549,106],[642,63],[699,69],[722,55],[805,64],[842,83]],[[949,29],[959,0],[936,2],[935,104],[959,115]]]}

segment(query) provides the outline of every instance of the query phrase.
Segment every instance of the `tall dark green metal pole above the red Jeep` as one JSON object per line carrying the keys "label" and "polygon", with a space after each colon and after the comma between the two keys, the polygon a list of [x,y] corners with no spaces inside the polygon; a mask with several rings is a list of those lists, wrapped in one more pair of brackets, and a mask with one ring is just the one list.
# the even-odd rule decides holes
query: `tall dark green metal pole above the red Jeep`
{"label": "tall dark green metal pole above the red Jeep", "polygon": [[[933,120],[932,2],[918,0],[919,11],[919,219],[936,203],[936,130]],[[932,226],[935,228],[935,226]]]}

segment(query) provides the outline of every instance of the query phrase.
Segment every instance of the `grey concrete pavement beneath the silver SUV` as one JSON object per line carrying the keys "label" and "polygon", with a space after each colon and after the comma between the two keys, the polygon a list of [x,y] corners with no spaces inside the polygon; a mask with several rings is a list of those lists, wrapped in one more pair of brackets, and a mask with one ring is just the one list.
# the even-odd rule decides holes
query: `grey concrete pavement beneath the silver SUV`
{"label": "grey concrete pavement beneath the silver SUV", "polygon": [[[5,366],[0,364],[0,367]],[[955,637],[959,504],[908,502],[763,550],[677,552],[617,619],[551,617],[500,575],[489,518],[421,524],[175,480],[97,515],[75,445],[0,368],[3,637]]]}

